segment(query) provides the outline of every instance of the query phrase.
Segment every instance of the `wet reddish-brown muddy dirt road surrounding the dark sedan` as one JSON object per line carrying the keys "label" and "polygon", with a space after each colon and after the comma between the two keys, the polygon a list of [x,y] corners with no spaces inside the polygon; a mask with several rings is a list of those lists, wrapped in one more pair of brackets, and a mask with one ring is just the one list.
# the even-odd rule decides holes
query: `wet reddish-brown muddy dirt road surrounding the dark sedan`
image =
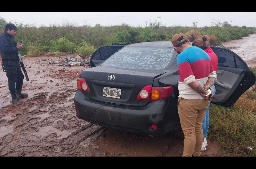
{"label": "wet reddish-brown muddy dirt road surrounding the dark sedan", "polygon": [[[256,50],[247,43],[253,42],[251,38],[254,39],[254,36],[249,35],[243,40],[233,40],[223,45],[238,47],[231,50],[238,50],[235,52],[251,63],[252,53]],[[180,129],[164,136],[152,137],[106,129],[76,118],[73,99],[76,78],[87,68],[49,64],[62,62],[68,56],[72,55],[24,57],[30,81],[24,80],[23,92],[28,93],[29,97],[17,104],[10,104],[7,77],[1,71],[0,156],[182,155],[184,136]],[[220,156],[220,148],[217,141],[209,138],[208,148],[202,155]]]}

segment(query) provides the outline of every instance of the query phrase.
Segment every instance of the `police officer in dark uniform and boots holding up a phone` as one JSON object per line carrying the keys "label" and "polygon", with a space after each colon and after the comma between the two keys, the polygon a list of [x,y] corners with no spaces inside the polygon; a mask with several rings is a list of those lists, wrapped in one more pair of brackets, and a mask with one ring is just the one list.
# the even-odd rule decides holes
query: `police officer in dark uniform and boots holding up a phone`
{"label": "police officer in dark uniform and boots holding up a phone", "polygon": [[18,50],[22,49],[22,44],[17,46],[13,37],[16,35],[17,27],[14,24],[7,24],[4,34],[0,35],[0,54],[2,66],[6,70],[8,86],[12,95],[11,102],[18,102],[19,98],[28,97],[27,93],[21,93],[23,85],[23,74],[20,69]]}

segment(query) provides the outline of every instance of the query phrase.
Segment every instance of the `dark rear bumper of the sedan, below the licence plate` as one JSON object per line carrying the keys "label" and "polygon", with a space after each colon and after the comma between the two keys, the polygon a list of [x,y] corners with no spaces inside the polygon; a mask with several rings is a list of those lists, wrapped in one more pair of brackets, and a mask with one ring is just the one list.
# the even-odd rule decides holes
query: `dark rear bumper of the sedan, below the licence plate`
{"label": "dark rear bumper of the sedan, below the licence plate", "polygon": [[[79,110],[76,114],[79,119],[107,128],[158,135],[175,129],[180,124],[177,104],[170,98],[133,107],[88,99],[83,92],[77,90],[74,101]],[[157,126],[156,130],[151,129],[152,124]]]}

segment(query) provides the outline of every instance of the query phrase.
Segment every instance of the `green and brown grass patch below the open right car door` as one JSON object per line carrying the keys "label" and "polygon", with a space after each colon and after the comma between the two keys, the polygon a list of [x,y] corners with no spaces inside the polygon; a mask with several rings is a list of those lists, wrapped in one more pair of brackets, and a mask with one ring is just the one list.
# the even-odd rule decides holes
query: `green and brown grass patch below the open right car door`
{"label": "green and brown grass patch below the open right car door", "polygon": [[[256,156],[256,86],[230,107],[211,104],[209,138],[222,145],[224,156]],[[251,146],[252,151],[247,147]]]}

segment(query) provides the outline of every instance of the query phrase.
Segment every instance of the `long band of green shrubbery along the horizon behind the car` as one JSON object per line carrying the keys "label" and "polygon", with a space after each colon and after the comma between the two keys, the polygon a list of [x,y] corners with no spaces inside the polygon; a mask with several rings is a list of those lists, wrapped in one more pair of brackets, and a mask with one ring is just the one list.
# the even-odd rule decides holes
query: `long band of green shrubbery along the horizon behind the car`
{"label": "long band of green shrubbery along the horizon behind the car", "polygon": [[[4,29],[6,23],[4,18],[0,18],[0,30]],[[42,51],[73,53],[79,50],[86,53],[90,50],[92,51],[92,48],[111,45],[111,43],[131,44],[148,41],[171,41],[176,33],[188,34],[190,41],[193,41],[200,35],[209,35],[211,45],[214,46],[230,39],[241,39],[249,34],[256,33],[255,27],[238,27],[227,23],[201,28],[197,28],[196,24],[194,26],[166,27],[161,25],[161,23],[158,27],[157,21],[137,27],[127,24],[119,26],[101,26],[100,24],[95,26],[74,26],[68,21],[63,23],[62,26],[51,25],[39,28],[24,24],[23,22],[14,22],[13,24],[18,27],[18,34],[15,40],[17,42],[24,40],[24,48],[20,50],[20,53],[22,55],[27,53],[29,55],[40,55]],[[81,42],[83,43],[83,40],[91,47],[82,47]]]}

